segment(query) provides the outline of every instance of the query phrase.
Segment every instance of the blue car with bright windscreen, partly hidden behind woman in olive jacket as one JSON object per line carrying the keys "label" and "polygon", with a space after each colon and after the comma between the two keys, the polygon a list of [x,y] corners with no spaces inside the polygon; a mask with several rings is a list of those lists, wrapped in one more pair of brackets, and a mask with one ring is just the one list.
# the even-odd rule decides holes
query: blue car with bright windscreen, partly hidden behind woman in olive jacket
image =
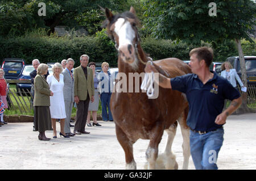
{"label": "blue car with bright windscreen, partly hidden behind woman in olive jacket", "polygon": [[[30,73],[35,70],[32,65],[26,65],[19,75],[19,80],[31,80]],[[31,83],[16,83],[16,90],[18,91],[31,91]]]}

